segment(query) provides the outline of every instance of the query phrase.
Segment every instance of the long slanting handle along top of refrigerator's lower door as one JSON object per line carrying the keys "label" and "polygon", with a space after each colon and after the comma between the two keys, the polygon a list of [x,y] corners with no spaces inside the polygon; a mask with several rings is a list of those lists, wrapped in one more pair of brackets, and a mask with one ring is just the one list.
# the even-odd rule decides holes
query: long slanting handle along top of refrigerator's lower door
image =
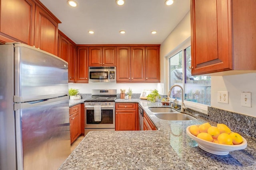
{"label": "long slanting handle along top of refrigerator's lower door", "polygon": [[52,102],[68,100],[68,99],[69,99],[69,96],[62,96],[62,97],[47,99],[47,100],[37,100],[37,101],[25,102],[25,103],[15,103],[14,104],[14,111],[17,111],[19,109],[29,108],[29,107],[40,106],[40,105],[43,105],[43,104],[49,104],[49,103],[52,103]]}

